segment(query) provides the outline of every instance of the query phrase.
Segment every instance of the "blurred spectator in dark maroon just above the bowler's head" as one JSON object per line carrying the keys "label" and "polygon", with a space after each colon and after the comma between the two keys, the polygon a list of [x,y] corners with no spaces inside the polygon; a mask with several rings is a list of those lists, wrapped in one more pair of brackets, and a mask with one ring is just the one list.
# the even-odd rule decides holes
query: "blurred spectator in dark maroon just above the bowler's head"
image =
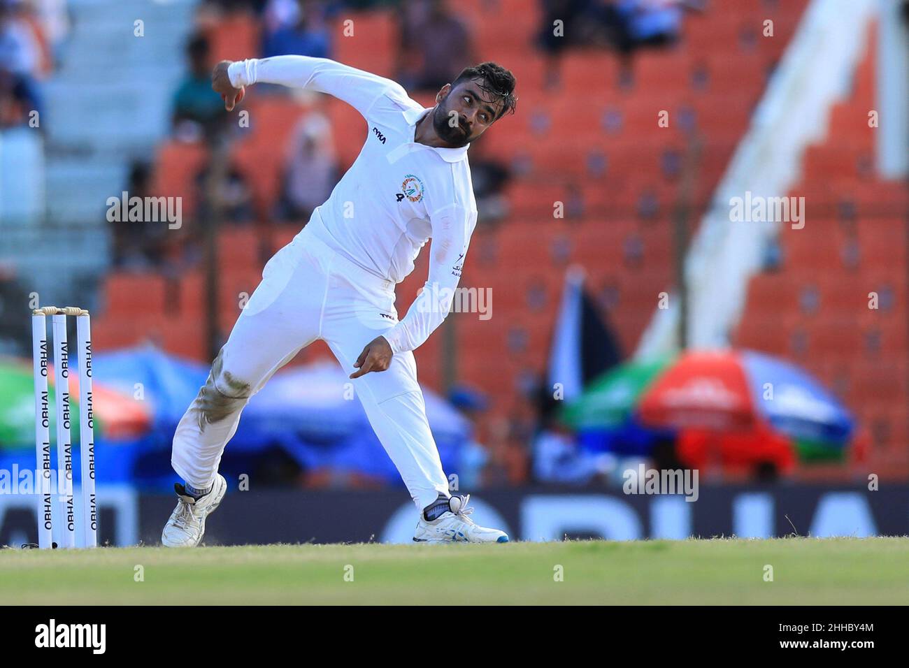
{"label": "blurred spectator in dark maroon just above the bowler's head", "polygon": [[408,90],[438,91],[475,62],[467,26],[445,0],[414,0],[400,12],[397,79]]}

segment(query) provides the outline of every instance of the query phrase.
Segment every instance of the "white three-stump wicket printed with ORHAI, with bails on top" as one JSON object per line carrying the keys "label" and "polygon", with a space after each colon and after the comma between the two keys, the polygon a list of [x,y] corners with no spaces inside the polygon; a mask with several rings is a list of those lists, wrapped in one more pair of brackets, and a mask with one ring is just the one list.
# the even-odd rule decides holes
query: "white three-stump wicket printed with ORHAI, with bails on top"
{"label": "white three-stump wicket printed with ORHAI, with bails on top", "polygon": [[[50,408],[47,389],[47,316],[54,333],[57,490],[51,481]],[[35,458],[41,476],[38,491],[38,547],[75,547],[73,444],[69,410],[69,357],[66,316],[75,317],[79,361],[79,454],[82,472],[83,536],[85,547],[97,546],[98,512],[95,497],[95,418],[92,411],[92,336],[88,311],[75,306],[45,306],[32,311],[32,353],[35,374]],[[53,497],[61,509],[62,526],[54,542]]]}

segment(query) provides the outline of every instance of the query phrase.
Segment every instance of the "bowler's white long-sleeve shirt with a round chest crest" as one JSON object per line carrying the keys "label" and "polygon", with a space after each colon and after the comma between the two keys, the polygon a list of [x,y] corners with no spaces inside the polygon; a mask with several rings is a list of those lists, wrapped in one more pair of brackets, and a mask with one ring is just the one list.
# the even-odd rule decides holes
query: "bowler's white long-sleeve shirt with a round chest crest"
{"label": "bowler's white long-sleeve shirt with a round chest crest", "polygon": [[309,224],[336,252],[395,283],[414,270],[432,237],[422,294],[383,334],[394,353],[423,344],[451,308],[476,225],[467,146],[416,143],[416,124],[429,109],[390,79],[326,58],[254,58],[227,72],[235,87],[263,82],[306,88],[334,95],[363,115],[363,149]]}

